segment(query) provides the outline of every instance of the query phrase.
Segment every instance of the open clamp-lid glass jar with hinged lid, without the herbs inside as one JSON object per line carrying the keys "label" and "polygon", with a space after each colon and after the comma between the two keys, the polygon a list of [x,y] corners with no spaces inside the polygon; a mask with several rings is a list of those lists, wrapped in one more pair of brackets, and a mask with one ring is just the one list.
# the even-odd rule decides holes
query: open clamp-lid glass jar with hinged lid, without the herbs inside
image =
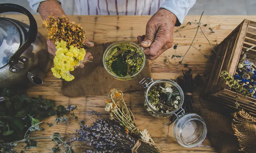
{"label": "open clamp-lid glass jar with hinged lid, without the herbs inside", "polygon": [[[161,83],[171,85],[171,87],[179,93],[180,98],[177,99],[179,103],[174,109],[172,109],[171,112],[159,112],[159,110],[157,110],[151,104],[151,99],[148,97],[152,87]],[[144,106],[149,114],[157,118],[167,118],[172,115],[177,117],[177,119],[174,121],[172,131],[175,140],[180,145],[186,148],[192,148],[202,144],[207,134],[206,124],[198,114],[185,113],[184,109],[182,108],[182,104],[184,102],[184,93],[177,83],[166,79],[153,81],[151,78],[144,78],[140,81],[140,84],[142,84],[144,88],[147,88],[145,90]]]}

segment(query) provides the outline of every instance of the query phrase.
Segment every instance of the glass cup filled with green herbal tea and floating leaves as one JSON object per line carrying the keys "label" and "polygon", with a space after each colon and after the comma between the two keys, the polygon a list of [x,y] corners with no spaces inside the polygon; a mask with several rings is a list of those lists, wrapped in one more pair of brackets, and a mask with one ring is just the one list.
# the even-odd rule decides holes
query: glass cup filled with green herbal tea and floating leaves
{"label": "glass cup filled with green herbal tea and floating leaves", "polygon": [[143,49],[130,41],[117,41],[103,54],[105,69],[118,80],[131,80],[145,66]]}

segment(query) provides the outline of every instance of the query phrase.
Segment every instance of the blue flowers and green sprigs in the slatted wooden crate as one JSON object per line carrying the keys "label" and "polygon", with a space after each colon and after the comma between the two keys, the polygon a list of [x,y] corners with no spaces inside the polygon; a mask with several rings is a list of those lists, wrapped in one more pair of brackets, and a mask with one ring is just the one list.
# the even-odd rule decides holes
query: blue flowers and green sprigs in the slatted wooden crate
{"label": "blue flowers and green sprigs in the slatted wooden crate", "polygon": [[256,66],[248,60],[239,63],[236,73],[232,77],[227,71],[222,71],[219,77],[223,77],[229,86],[239,94],[256,98]]}

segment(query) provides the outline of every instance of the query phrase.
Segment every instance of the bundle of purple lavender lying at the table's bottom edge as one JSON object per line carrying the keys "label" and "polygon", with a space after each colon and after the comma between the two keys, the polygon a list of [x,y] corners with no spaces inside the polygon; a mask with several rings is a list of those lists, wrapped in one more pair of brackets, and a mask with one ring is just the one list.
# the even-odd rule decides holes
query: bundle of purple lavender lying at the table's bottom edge
{"label": "bundle of purple lavender lying at the table's bottom edge", "polygon": [[80,130],[76,129],[76,132],[76,137],[73,137],[74,141],[86,141],[88,146],[93,146],[96,149],[87,149],[87,153],[159,152],[155,146],[128,135],[123,128],[110,120],[97,119],[94,125],[83,125]]}

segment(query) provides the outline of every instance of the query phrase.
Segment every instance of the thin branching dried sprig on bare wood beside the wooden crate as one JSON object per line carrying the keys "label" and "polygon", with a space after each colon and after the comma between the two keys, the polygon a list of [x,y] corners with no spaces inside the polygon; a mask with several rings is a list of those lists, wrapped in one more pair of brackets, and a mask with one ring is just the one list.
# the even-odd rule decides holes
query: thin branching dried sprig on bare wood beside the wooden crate
{"label": "thin branching dried sprig on bare wood beside the wooden crate", "polygon": [[[200,49],[197,49],[197,48],[193,45],[194,40],[195,40],[195,38],[196,38],[196,36],[197,36],[197,33],[198,33],[198,30],[199,30],[199,29],[201,30],[201,32],[203,33],[204,37],[205,37],[205,38],[207,39],[207,41],[209,42],[209,44],[210,44],[210,46],[211,46],[213,52],[217,55],[217,53],[216,53],[216,51],[213,49],[213,47],[212,47],[212,45],[211,45],[209,39],[205,36],[205,34],[204,34],[204,32],[203,32],[203,30],[202,30],[202,28],[201,28],[201,24],[202,24],[202,23],[201,23],[201,18],[202,18],[203,13],[204,13],[204,11],[202,12],[202,14],[201,14],[201,16],[200,16],[199,22],[196,22],[196,23],[195,23],[195,24],[197,24],[197,27],[195,27],[195,28],[190,28],[190,29],[183,29],[183,28],[185,28],[187,25],[191,25],[191,24],[192,24],[192,22],[188,22],[188,23],[186,24],[186,26],[183,26],[183,27],[180,28],[180,29],[183,29],[183,30],[197,29],[197,31],[196,31],[196,34],[195,34],[195,36],[194,36],[194,38],[193,38],[193,40],[192,40],[192,42],[191,42],[190,45],[181,45],[181,46],[189,46],[189,48],[187,49],[186,53],[185,53],[183,56],[176,54],[177,44],[174,45],[175,55],[172,55],[172,58],[174,58],[174,57],[179,57],[179,58],[181,58],[181,61],[179,61],[179,65],[182,64],[182,62],[183,62],[183,60],[184,60],[184,57],[186,56],[187,52],[189,51],[189,49],[190,49],[191,47],[195,48],[197,51],[199,51],[201,54],[203,54],[203,53],[200,51]],[[193,22],[193,23],[194,23],[194,22]],[[206,27],[207,24],[203,24],[203,26]],[[175,32],[183,31],[183,30],[180,30],[180,29],[176,30]],[[209,30],[211,30],[211,32],[214,33],[211,28],[209,28]],[[181,46],[179,46],[179,47],[181,47]],[[204,57],[210,58],[210,56],[208,56],[208,55],[205,55],[205,54],[203,54],[203,55],[204,55]],[[218,57],[218,55],[217,55],[217,57]]]}

